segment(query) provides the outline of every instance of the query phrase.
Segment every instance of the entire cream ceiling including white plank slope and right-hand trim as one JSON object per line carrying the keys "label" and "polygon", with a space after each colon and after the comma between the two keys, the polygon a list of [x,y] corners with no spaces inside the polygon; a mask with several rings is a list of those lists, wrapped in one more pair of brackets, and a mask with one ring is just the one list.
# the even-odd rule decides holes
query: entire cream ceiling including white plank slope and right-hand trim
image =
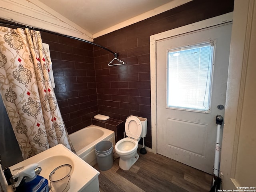
{"label": "entire cream ceiling including white plank slope and right-hand trim", "polygon": [[190,1],[0,0],[0,18],[93,41]]}

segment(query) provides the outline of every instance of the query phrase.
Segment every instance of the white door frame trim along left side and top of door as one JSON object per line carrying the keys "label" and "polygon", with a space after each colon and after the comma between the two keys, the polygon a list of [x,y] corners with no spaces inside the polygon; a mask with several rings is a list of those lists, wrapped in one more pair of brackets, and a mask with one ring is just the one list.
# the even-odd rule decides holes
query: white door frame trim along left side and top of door
{"label": "white door frame trim along left side and top of door", "polygon": [[230,12],[150,36],[151,134],[153,153],[157,153],[156,42],[165,38],[231,22],[232,18],[233,12]]}

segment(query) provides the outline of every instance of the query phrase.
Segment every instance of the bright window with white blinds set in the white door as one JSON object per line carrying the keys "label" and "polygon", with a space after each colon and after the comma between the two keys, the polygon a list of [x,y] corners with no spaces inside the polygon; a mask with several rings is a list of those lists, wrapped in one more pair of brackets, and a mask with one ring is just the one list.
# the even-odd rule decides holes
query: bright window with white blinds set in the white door
{"label": "bright window with white blinds set in the white door", "polygon": [[214,45],[167,51],[167,108],[210,113]]}

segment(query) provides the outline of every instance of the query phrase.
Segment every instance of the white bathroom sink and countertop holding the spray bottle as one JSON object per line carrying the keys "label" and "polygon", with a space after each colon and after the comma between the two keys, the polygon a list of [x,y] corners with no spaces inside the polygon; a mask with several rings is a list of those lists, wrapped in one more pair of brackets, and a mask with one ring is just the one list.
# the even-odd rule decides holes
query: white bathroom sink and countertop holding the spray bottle
{"label": "white bathroom sink and countertop holding the spray bottle", "polygon": [[[68,191],[99,191],[98,175],[100,173],[62,144],[56,145],[9,168],[12,174],[14,174],[16,169],[20,169],[32,163],[37,163],[39,167],[42,168],[40,176],[48,180],[49,186],[50,173],[60,165],[70,164],[72,170],[70,173],[70,189]],[[9,190],[12,191],[11,189]]]}

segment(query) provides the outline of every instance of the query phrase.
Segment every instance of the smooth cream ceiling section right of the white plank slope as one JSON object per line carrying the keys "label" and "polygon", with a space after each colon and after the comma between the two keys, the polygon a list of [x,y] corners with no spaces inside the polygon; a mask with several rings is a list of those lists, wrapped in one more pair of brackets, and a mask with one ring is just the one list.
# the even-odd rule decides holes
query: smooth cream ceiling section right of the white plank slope
{"label": "smooth cream ceiling section right of the white plank slope", "polygon": [[[176,2],[174,6],[177,6],[177,2],[180,5],[188,1],[190,0],[40,0],[90,34],[118,25],[122,28],[169,10],[172,2]],[[138,16],[140,19],[137,19]]]}

